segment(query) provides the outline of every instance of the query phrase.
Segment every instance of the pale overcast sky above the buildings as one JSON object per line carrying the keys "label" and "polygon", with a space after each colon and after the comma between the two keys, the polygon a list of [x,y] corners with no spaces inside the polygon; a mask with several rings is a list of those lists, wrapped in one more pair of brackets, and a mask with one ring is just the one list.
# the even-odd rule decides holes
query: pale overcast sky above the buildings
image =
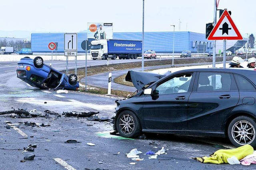
{"label": "pale overcast sky above the buildings", "polygon": [[[232,12],[244,38],[256,33],[255,7],[256,0],[219,0],[218,5]],[[113,23],[113,32],[142,32],[143,0],[4,0],[1,14],[0,37],[87,32],[88,22]],[[144,32],[171,32],[175,25],[175,31],[205,34],[213,20],[214,0],[144,0]]]}

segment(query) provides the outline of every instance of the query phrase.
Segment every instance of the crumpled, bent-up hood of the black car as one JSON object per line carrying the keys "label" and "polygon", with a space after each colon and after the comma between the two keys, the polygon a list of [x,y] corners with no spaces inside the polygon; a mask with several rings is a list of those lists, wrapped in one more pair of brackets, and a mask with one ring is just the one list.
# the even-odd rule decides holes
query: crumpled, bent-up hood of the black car
{"label": "crumpled, bent-up hood of the black car", "polygon": [[164,74],[157,74],[130,70],[126,74],[125,81],[132,82],[134,87],[140,91],[145,85],[152,84],[170,73],[170,71],[167,71]]}

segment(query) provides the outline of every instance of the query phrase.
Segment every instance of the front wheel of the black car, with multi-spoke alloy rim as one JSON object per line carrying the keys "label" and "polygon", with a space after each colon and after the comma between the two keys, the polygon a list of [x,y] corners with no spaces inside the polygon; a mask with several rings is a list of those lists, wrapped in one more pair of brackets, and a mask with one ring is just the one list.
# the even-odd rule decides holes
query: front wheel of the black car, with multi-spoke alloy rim
{"label": "front wheel of the black car, with multi-spoke alloy rim", "polygon": [[134,138],[140,134],[140,121],[132,111],[122,111],[116,119],[118,133],[125,138]]}

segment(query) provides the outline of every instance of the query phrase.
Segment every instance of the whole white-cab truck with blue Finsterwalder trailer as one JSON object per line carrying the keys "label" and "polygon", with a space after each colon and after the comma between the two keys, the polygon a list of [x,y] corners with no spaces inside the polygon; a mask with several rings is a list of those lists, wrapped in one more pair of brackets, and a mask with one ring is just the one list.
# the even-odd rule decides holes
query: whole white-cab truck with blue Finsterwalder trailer
{"label": "whole white-cab truck with blue Finsterwalder trailer", "polygon": [[142,57],[142,41],[139,40],[93,40],[92,59],[137,59]]}

